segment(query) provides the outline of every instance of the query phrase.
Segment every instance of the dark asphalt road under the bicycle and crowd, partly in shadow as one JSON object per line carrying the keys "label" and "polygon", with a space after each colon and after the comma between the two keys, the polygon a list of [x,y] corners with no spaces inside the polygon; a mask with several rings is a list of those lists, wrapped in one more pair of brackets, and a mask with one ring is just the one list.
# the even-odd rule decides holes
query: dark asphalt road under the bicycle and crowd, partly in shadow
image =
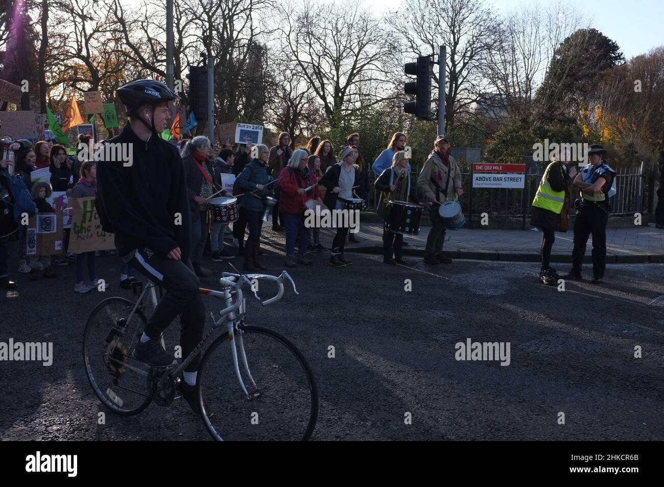
{"label": "dark asphalt road under the bicycle and crowd, partly in shadow", "polygon": [[[347,258],[355,262],[348,268],[330,268],[325,254],[295,268],[299,296],[287,291],[267,308],[248,300],[247,321],[291,338],[311,364],[320,394],[313,439],[664,439],[664,308],[647,304],[664,294],[664,266],[612,265],[607,284],[566,282],[559,292],[540,285],[530,263]],[[272,274],[284,268],[281,256],[264,262]],[[118,284],[116,256],[100,257],[98,267],[110,283],[103,295],[74,293],[70,265],[56,268],[56,280],[21,275],[18,292],[0,296],[0,341],[52,341],[54,355],[49,367],[0,361],[0,437],[210,439],[184,401],[135,417],[106,412],[98,424],[106,409],[84,375],[82,330],[102,298],[131,294]],[[509,342],[509,365],[457,360],[455,345],[468,338]]]}

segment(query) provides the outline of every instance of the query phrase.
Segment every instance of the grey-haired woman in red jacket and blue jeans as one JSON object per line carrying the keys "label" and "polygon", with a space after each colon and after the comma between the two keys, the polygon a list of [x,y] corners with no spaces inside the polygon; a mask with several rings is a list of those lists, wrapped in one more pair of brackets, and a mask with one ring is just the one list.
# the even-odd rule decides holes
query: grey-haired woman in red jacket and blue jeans
{"label": "grey-haired woman in red jacket and blue jeans", "polygon": [[[318,199],[316,177],[307,166],[309,153],[305,149],[297,149],[291,155],[288,165],[279,174],[278,185],[281,191],[279,201],[280,211],[284,214],[286,223],[286,267],[295,267],[293,254],[295,254],[295,240],[299,233],[299,252],[297,262],[311,265],[311,257],[307,254],[309,232],[304,228],[304,202],[307,199]],[[313,189],[306,188],[313,185]]]}

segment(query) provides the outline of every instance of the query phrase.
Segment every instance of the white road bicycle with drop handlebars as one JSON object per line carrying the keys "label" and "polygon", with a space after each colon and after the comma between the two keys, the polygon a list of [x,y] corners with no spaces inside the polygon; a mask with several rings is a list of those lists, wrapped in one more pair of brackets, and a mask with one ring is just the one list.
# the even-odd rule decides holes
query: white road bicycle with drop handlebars
{"label": "white road bicycle with drop handlebars", "polygon": [[[166,367],[149,367],[133,357],[147,322],[145,304],[157,306],[157,286],[148,282],[141,288],[135,283],[133,300],[113,297],[100,302],[83,336],[83,361],[94,393],[120,415],[141,413],[151,401],[170,405],[178,397],[181,373],[209,345],[201,359],[197,392],[203,423],[212,438],[307,440],[318,415],[318,389],[309,363],[281,334],[244,324],[242,286],[251,286],[260,300],[257,283],[276,283],[276,296],[262,302],[267,306],[282,298],[286,279],[298,294],[285,270],[278,277],[224,272],[221,290],[199,288],[201,294],[222,300],[226,308],[216,319],[210,313],[212,328],[181,363]],[[228,345],[222,346],[224,342]],[[168,350],[163,334],[161,345]]]}

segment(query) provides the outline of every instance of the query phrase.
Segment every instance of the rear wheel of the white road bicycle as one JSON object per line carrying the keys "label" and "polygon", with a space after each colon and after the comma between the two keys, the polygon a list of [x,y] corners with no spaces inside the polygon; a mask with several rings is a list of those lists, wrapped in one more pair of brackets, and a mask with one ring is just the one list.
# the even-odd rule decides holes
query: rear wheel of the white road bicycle
{"label": "rear wheel of the white road bicycle", "polygon": [[92,390],[106,407],[125,416],[141,413],[151,401],[149,367],[131,355],[147,320],[136,310],[127,323],[132,308],[125,298],[100,302],[83,334],[83,363]]}

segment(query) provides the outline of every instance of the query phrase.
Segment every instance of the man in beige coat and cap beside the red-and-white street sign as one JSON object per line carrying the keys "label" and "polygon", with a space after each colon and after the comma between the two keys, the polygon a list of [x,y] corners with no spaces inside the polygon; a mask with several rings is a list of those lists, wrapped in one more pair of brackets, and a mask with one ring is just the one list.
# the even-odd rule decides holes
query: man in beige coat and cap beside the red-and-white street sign
{"label": "man in beige coat and cap beside the red-and-white street sign", "polygon": [[463,195],[461,189],[461,171],[454,157],[450,155],[450,142],[445,136],[438,136],[434,150],[422,167],[418,177],[417,189],[422,201],[429,207],[431,231],[426,239],[424,262],[427,264],[449,264],[452,259],[443,256],[445,225],[438,213],[440,205],[448,200],[456,201]]}

